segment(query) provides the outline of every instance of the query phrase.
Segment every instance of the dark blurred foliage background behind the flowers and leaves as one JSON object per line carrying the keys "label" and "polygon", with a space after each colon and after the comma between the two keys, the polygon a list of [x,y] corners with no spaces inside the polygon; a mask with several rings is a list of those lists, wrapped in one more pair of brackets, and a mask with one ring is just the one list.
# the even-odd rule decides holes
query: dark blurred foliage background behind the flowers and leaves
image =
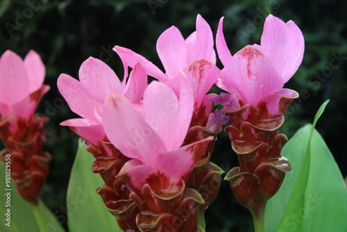
{"label": "dark blurred foliage background behind the flowers and leaves", "polygon": [[[316,129],[346,176],[346,9],[344,0],[1,0],[0,53],[10,49],[24,57],[34,49],[46,65],[44,83],[51,85],[37,109],[40,115],[50,117],[45,149],[53,157],[42,199],[53,212],[65,208],[77,149],[77,135],[59,126],[65,119],[78,116],[71,113],[59,94],[58,76],[65,73],[77,78],[81,63],[93,56],[122,77],[121,60],[112,51],[116,44],[142,54],[162,68],[155,51],[160,33],[174,25],[187,37],[195,31],[197,14],[207,20],[214,34],[220,17],[225,17],[224,35],[232,53],[246,44],[260,42],[269,13],[285,22],[293,20],[301,28],[305,38],[303,64],[285,85],[301,97],[287,110],[280,132],[291,138],[301,126],[311,123],[321,103],[330,99]],[[222,67],[221,63],[217,66]],[[214,91],[219,92],[217,88]],[[224,131],[219,134],[212,162],[226,172],[238,165]],[[206,211],[206,221],[207,231],[253,231],[251,214],[237,204],[226,181]]]}

